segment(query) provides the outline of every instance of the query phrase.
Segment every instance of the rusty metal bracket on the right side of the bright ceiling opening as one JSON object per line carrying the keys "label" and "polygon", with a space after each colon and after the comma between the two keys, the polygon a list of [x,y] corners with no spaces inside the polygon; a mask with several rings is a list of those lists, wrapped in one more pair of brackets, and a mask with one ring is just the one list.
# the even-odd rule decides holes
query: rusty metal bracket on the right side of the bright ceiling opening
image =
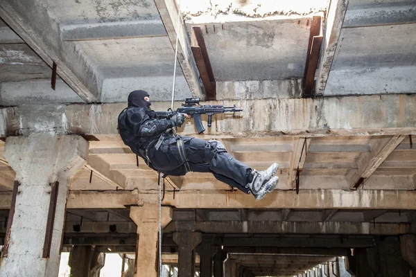
{"label": "rusty metal bracket on the right side of the bright ceiling opening", "polygon": [[314,16],[312,17],[308,53],[306,55],[304,73],[304,97],[313,96],[313,82],[315,80],[316,68],[318,66],[322,39],[322,17]]}

